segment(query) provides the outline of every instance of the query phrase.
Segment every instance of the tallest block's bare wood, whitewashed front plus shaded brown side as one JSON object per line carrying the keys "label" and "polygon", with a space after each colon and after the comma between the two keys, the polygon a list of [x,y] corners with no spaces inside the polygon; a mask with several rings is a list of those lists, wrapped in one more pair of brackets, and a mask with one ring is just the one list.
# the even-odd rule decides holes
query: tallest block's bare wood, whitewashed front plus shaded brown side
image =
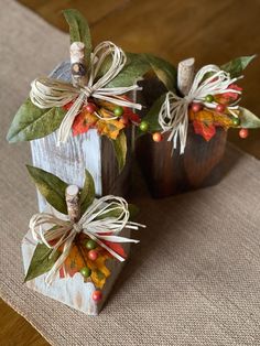
{"label": "tallest block's bare wood, whitewashed front plus shaded brown side", "polygon": [[[58,65],[51,77],[71,80],[71,62]],[[134,95],[132,97],[136,98]],[[130,133],[128,148],[131,148]],[[71,134],[68,141],[61,147],[56,145],[56,132],[51,133],[31,141],[31,151],[34,166],[79,187],[83,186],[85,169],[87,169],[94,177],[97,196],[107,194],[124,196],[128,192],[130,150],[128,150],[126,166],[119,174],[111,142],[106,137],[100,137],[95,129],[76,137]],[[40,212],[45,205],[45,199],[39,194]]]}

